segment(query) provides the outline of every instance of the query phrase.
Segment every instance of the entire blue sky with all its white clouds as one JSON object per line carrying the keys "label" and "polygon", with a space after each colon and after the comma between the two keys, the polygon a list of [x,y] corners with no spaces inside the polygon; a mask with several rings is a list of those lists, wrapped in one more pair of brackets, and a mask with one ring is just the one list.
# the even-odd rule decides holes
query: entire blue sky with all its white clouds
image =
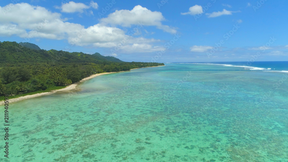
{"label": "entire blue sky with all its white clouds", "polygon": [[0,0],[0,41],[131,62],[288,61],[285,0]]}

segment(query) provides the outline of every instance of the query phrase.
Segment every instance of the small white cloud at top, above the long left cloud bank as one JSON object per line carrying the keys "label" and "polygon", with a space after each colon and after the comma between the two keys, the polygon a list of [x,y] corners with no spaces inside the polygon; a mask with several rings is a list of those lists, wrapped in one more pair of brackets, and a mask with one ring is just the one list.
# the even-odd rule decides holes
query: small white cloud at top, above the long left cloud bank
{"label": "small white cloud at top, above the long left cloud bank", "polygon": [[69,3],[62,3],[61,12],[66,13],[74,13],[74,12],[80,12],[83,13],[84,9],[90,8],[90,6],[85,5],[84,3],[75,3],[73,1],[70,1]]}

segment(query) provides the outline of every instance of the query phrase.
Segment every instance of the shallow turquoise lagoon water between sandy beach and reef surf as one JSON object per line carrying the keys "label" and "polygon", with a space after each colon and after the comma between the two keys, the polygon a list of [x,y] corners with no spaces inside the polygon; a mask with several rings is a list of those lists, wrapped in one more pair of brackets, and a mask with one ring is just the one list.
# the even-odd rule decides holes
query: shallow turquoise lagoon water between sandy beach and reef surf
{"label": "shallow turquoise lagoon water between sandy beach and reef surf", "polygon": [[10,104],[8,161],[288,161],[285,75],[211,64],[102,75]]}

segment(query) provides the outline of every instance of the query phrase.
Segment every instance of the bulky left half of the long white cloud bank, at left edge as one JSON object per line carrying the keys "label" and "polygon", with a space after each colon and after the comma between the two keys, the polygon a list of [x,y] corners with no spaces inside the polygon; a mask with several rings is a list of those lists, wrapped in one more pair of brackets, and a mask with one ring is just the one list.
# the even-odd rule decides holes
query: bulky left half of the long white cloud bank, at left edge
{"label": "bulky left half of the long white cloud bank, at left edge", "polygon": [[[5,10],[4,8],[0,8],[0,14]],[[3,33],[9,33],[10,27],[13,26],[17,31],[14,34],[20,37],[28,37],[31,34],[31,37],[41,35],[41,37],[48,39],[63,38],[63,32],[67,26],[74,28],[74,30],[82,28],[80,24],[64,22],[65,20],[61,19],[60,16],[61,14],[52,13],[44,7],[32,6],[28,3],[18,3],[5,16],[0,16],[0,25],[4,30],[2,31]],[[41,32],[38,32],[40,29]]]}

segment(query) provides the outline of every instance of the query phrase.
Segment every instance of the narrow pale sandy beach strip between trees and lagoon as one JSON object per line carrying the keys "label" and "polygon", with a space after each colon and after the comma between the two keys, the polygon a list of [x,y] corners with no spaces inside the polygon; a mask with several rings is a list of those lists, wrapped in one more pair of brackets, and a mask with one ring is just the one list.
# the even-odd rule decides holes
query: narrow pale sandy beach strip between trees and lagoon
{"label": "narrow pale sandy beach strip between trees and lagoon", "polygon": [[[165,66],[165,65],[160,65],[160,66]],[[151,67],[158,67],[158,66],[151,66]],[[151,67],[143,67],[143,68],[151,68]],[[134,69],[139,69],[139,68],[134,68]],[[130,70],[133,70],[133,69],[130,69]],[[128,71],[130,71],[130,70],[128,70]],[[38,94],[33,94],[33,95],[21,96],[21,97],[18,97],[18,98],[12,98],[12,99],[9,100],[9,103],[17,102],[17,101],[21,101],[21,100],[25,100],[25,99],[28,99],[28,98],[34,98],[34,97],[39,97],[39,96],[46,96],[46,95],[54,94],[54,93],[56,93],[56,92],[61,92],[61,91],[71,91],[71,90],[73,90],[73,89],[76,89],[77,85],[79,85],[80,83],[82,83],[82,82],[84,82],[84,81],[87,81],[87,80],[89,80],[89,79],[98,77],[98,76],[100,76],[100,75],[112,74],[112,73],[121,73],[121,72],[125,72],[125,71],[93,74],[93,75],[90,75],[89,77],[86,77],[86,78],[82,79],[81,81],[79,81],[79,82],[77,82],[77,83],[73,83],[73,84],[71,84],[71,85],[68,85],[68,86],[65,87],[65,88],[57,89],[57,90],[52,90],[51,92],[44,92],[44,93],[38,93]],[[3,105],[3,104],[5,104],[4,101],[0,101],[0,105]]]}

